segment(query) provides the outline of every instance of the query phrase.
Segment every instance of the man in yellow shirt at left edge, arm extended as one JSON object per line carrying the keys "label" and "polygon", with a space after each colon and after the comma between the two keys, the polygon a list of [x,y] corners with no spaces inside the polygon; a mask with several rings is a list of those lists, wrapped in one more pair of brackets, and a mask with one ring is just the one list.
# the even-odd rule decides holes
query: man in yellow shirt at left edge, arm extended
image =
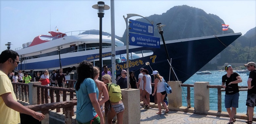
{"label": "man in yellow shirt at left edge, arm extended", "polygon": [[3,124],[20,123],[19,112],[32,115],[39,121],[44,119],[42,113],[35,112],[17,102],[7,74],[12,72],[19,62],[19,54],[13,50],[7,49],[0,54],[0,123]]}

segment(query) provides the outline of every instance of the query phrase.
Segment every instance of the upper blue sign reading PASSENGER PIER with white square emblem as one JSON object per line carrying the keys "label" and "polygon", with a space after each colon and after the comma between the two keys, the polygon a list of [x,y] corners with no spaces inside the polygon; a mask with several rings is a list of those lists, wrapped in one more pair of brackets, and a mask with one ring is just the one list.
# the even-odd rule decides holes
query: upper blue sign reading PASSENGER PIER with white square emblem
{"label": "upper blue sign reading PASSENGER PIER with white square emblem", "polygon": [[140,34],[146,34],[146,35],[151,35],[154,36],[154,25],[140,22],[140,21],[135,21],[132,19],[130,20],[130,32],[135,32],[135,33],[140,33]]}

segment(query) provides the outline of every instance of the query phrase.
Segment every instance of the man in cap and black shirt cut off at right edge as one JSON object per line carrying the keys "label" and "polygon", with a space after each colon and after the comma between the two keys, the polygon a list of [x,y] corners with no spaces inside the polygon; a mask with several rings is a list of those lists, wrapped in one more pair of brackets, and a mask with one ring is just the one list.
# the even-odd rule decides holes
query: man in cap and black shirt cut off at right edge
{"label": "man in cap and black shirt cut off at right edge", "polygon": [[247,100],[246,100],[246,106],[248,107],[248,116],[249,120],[246,121],[247,124],[252,123],[253,118],[253,109],[256,104],[256,64],[254,62],[248,62],[244,65],[247,67],[248,71],[251,71],[249,74],[249,78],[247,80],[248,84],[248,91],[247,91]]}

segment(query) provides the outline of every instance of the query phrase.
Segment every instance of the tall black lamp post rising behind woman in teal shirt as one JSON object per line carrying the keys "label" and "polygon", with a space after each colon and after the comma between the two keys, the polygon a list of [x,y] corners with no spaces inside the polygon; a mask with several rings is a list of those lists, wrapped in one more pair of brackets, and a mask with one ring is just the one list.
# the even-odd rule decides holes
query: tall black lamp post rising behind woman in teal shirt
{"label": "tall black lamp post rising behind woman in teal shirt", "polygon": [[99,17],[99,80],[101,80],[102,72],[102,17],[104,17],[104,10],[109,10],[110,7],[105,5],[104,2],[98,1],[98,4],[92,6],[94,9],[98,10]]}

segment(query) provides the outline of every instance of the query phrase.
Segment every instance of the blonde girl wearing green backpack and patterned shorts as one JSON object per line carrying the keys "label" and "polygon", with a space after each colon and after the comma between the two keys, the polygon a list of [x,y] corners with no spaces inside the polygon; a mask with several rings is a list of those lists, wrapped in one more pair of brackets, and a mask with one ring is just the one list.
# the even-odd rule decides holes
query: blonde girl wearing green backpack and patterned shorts
{"label": "blonde girl wearing green backpack and patterned shorts", "polygon": [[[121,92],[120,86],[116,85],[116,84],[112,84],[111,82],[111,77],[110,75],[103,75],[101,80],[105,83],[105,86],[107,87],[107,91],[108,91],[108,95],[109,95],[109,103],[110,106],[108,106],[108,113],[107,113],[107,123],[108,124],[112,124],[112,119],[114,118],[114,116],[117,116],[117,124],[122,124],[123,123],[123,114],[124,114],[124,104],[122,102],[122,98],[120,98],[120,94],[116,95],[116,93],[112,93],[109,91],[112,91],[113,88],[115,87],[118,89],[119,87],[119,91]],[[121,94],[122,95],[122,94]],[[120,98],[119,101],[115,101],[116,99]]]}

